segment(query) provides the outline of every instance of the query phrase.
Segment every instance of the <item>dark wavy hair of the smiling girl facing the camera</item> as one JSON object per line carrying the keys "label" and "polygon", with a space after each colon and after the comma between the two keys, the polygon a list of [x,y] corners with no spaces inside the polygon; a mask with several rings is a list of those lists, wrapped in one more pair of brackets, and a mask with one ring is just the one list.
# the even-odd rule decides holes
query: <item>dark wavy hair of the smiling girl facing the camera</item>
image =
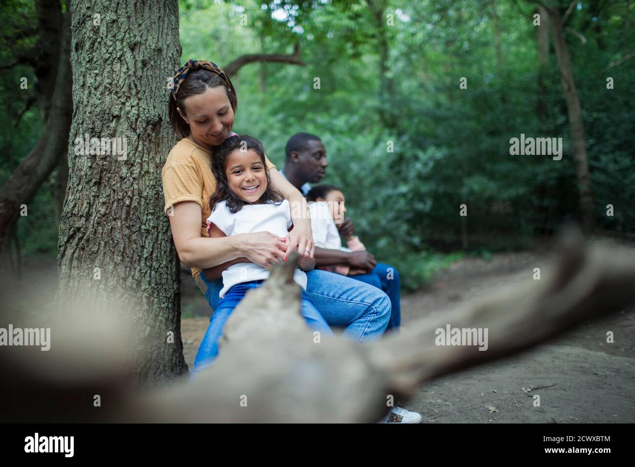
{"label": "dark wavy hair of the smiling girl facing the camera", "polygon": [[265,150],[262,147],[262,143],[250,135],[233,135],[227,138],[223,144],[218,146],[213,152],[211,170],[216,177],[216,192],[210,196],[210,209],[213,211],[217,203],[227,201],[229,212],[235,214],[241,210],[244,205],[248,204],[246,201],[238,198],[231,190],[229,182],[227,181],[227,172],[225,172],[225,170],[227,170],[229,154],[231,154],[232,151],[236,151],[236,149],[243,151],[251,149],[260,156],[260,161],[262,161],[265,177],[267,177],[267,188],[254,204],[264,204],[272,201],[274,204],[277,203],[276,206],[279,206],[284,200],[284,196],[271,184],[271,177],[269,176],[267,164],[265,163]]}

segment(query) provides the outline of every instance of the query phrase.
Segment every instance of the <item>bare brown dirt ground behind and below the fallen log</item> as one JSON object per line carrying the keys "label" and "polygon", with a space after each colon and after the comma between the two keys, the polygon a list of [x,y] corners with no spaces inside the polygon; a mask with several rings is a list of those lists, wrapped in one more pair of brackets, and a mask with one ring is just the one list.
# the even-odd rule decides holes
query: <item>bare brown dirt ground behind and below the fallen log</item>
{"label": "bare brown dirt ground behind and below the fallen log", "polygon": [[[402,325],[513,287],[531,278],[534,267],[543,270],[550,255],[543,250],[455,262],[429,285],[403,295]],[[182,335],[191,368],[210,309],[191,278],[183,279],[183,309],[192,317],[182,320]],[[607,331],[613,343],[606,342]],[[633,423],[634,344],[632,306],[519,355],[440,377],[401,405],[422,414],[424,423]],[[540,407],[533,405],[536,394]]]}

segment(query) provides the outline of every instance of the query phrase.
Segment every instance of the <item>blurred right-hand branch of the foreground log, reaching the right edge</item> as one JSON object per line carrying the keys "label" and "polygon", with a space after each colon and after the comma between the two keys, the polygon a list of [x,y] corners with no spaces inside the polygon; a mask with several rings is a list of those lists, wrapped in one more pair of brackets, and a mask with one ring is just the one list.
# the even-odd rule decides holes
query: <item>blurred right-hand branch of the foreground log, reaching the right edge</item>
{"label": "blurred right-hand branch of the foreground log, reaching the right edge", "polygon": [[[375,357],[393,374],[394,389],[410,394],[422,381],[511,355],[592,316],[620,311],[635,299],[635,291],[624,289],[635,280],[629,250],[599,243],[584,247],[580,234],[566,236],[559,247],[561,259],[549,277],[533,284],[528,280],[526,288],[503,292],[481,304],[466,303],[453,313],[432,315],[414,323],[407,335],[378,342]],[[452,328],[488,329],[488,349],[438,346],[436,329],[447,323]]]}

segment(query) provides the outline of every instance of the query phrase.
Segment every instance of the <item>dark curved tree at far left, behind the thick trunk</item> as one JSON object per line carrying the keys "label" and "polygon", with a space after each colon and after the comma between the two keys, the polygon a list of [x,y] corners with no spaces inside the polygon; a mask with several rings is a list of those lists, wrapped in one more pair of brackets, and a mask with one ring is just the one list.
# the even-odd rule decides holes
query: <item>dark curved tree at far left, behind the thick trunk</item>
{"label": "dark curved tree at far left, behind the thick trunk", "polygon": [[[21,2],[5,8],[10,6],[22,8]],[[13,127],[19,125],[25,112],[33,104],[37,104],[45,122],[37,144],[22,159],[0,191],[0,257],[3,264],[9,261],[9,242],[15,236],[16,223],[22,209],[20,206],[26,205],[28,208],[39,187],[56,167],[57,173],[51,189],[57,222],[64,203],[72,86],[69,85],[70,15],[64,13],[63,7],[64,11],[68,11],[68,6],[61,4],[59,0],[38,0],[36,18],[27,20],[11,30],[11,35],[3,37],[5,43],[15,47],[11,62],[4,65],[3,69],[28,65],[35,75],[34,86],[29,86],[29,79],[26,77],[11,86],[11,90],[15,91],[23,84],[27,90],[23,109],[18,113]],[[30,43],[34,44],[30,46]],[[29,145],[28,141],[22,143]],[[19,264],[19,248],[17,250]]]}

